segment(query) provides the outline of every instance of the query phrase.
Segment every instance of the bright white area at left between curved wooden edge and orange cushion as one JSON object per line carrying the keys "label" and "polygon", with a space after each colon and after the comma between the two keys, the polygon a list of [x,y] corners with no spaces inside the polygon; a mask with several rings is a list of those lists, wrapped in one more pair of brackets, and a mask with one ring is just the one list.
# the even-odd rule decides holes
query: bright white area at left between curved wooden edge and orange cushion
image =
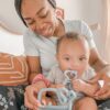
{"label": "bright white area at left between curved wooden edge and orange cushion", "polygon": [[0,29],[0,53],[21,55],[24,52],[22,35],[13,35]]}

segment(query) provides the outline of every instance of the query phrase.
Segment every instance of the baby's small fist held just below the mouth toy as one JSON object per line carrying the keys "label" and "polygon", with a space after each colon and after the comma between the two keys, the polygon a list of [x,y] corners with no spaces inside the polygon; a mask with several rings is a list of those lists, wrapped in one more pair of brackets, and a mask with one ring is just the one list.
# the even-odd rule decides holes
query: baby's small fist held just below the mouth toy
{"label": "baby's small fist held just below the mouth toy", "polygon": [[81,79],[74,79],[73,81],[73,88],[74,90],[81,92],[85,89],[85,81]]}

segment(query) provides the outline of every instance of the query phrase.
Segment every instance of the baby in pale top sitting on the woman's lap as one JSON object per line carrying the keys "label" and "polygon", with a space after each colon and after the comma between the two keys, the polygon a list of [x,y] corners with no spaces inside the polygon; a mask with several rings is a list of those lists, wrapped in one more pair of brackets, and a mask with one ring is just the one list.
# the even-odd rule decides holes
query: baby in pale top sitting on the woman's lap
{"label": "baby in pale top sitting on the woman's lap", "polygon": [[[90,85],[87,81],[95,77],[95,70],[89,66],[90,48],[85,35],[78,33],[66,33],[57,41],[55,65],[47,76],[51,88],[61,88],[67,79],[66,70],[76,72],[77,76],[68,78],[72,80],[72,89],[85,96],[78,96],[74,110],[97,110],[97,103],[92,98],[99,89],[98,82]],[[78,95],[78,94],[77,94]],[[85,108],[79,106],[85,103]]]}

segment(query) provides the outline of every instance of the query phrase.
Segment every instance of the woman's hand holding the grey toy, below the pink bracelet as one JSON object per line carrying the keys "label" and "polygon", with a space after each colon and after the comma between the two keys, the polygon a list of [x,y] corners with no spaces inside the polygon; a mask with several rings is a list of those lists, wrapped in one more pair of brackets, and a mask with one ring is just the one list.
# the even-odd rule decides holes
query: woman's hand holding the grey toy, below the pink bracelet
{"label": "woman's hand holding the grey toy, below the pink bracelet", "polygon": [[37,101],[37,92],[40,91],[40,89],[45,87],[46,86],[43,81],[37,81],[36,84],[28,86],[24,92],[25,107],[32,110],[37,110],[37,107],[41,105]]}

